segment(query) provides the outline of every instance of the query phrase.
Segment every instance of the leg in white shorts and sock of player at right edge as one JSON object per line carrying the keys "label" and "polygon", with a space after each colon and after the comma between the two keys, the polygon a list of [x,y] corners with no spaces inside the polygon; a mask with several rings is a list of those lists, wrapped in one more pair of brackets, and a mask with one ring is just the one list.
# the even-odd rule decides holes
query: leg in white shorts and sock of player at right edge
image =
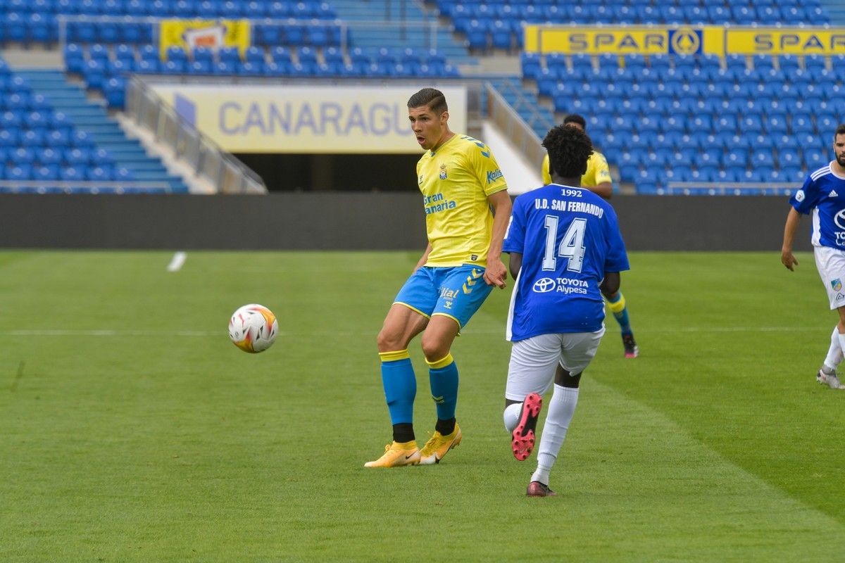
{"label": "leg in white shorts and sock of player at right edge", "polygon": [[842,280],[845,280],[845,252],[826,246],[816,246],[814,256],[815,267],[819,271],[822,283],[825,284],[831,310],[836,309],[839,315],[839,322],[833,328],[827,355],[815,374],[815,381],[834,389],[841,389],[845,387],[842,387],[839,382],[837,366],[842,361],[842,355],[845,352],[845,306],[842,305],[845,301],[845,290],[842,286]]}

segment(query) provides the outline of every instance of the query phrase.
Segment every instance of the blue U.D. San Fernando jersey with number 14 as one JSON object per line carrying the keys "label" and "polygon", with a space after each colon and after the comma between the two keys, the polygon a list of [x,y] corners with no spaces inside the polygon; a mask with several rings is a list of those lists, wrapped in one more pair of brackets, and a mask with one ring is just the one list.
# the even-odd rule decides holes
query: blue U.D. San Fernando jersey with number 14
{"label": "blue U.D. San Fernando jersey with number 14", "polygon": [[629,269],[616,212],[581,187],[550,184],[516,198],[503,250],[522,254],[508,313],[514,342],[601,329],[604,273]]}

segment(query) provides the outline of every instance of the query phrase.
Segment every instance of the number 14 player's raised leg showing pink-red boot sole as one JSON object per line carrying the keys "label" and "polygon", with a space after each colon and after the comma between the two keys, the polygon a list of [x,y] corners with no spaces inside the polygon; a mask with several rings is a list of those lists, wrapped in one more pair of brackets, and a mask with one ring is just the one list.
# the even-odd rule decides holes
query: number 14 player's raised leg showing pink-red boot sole
{"label": "number 14 player's raised leg showing pink-red boot sole", "polygon": [[527,338],[510,350],[503,418],[511,451],[519,461],[525,461],[534,448],[542,395],[552,386],[559,359],[559,334]]}

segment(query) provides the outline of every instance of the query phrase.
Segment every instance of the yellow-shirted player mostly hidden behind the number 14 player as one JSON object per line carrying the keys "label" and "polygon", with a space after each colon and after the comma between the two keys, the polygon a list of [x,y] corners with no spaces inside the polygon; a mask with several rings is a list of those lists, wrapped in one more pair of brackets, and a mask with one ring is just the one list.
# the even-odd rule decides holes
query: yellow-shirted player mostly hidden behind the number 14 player
{"label": "yellow-shirted player mostly hidden behind the number 14 player", "polygon": [[[576,113],[571,113],[564,117],[564,125],[578,127],[581,131],[586,132],[586,120]],[[552,183],[552,176],[549,176],[548,173],[548,154],[542,160],[542,183],[546,186]],[[610,199],[610,196],[613,194],[613,185],[611,184],[608,160],[604,158],[604,154],[595,150],[592,152],[590,160],[586,162],[586,172],[584,176],[581,176],[581,187],[586,187],[591,192],[602,196],[602,198]],[[628,307],[625,304],[624,295],[622,295],[621,291],[603,295],[605,300],[608,301],[610,311],[613,311],[613,317],[616,318],[616,321],[619,322],[619,327],[622,329],[622,345],[625,350],[625,357],[637,357],[640,354],[640,347],[636,345],[634,331],[631,330]]]}

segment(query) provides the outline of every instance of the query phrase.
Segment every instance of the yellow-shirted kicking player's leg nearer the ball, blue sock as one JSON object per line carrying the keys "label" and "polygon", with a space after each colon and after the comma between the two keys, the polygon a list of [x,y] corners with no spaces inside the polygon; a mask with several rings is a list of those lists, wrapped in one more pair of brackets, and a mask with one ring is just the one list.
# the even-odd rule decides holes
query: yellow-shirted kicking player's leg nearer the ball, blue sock
{"label": "yellow-shirted kicking player's leg nearer the ball, blue sock", "polygon": [[402,286],[384,318],[384,325],[377,338],[381,381],[393,425],[393,441],[384,448],[382,457],[364,463],[364,467],[396,467],[419,463],[419,448],[413,428],[417,377],[408,354],[408,343],[423,332],[428,324],[428,314],[436,301],[436,288],[428,273],[427,268],[420,268]]}

